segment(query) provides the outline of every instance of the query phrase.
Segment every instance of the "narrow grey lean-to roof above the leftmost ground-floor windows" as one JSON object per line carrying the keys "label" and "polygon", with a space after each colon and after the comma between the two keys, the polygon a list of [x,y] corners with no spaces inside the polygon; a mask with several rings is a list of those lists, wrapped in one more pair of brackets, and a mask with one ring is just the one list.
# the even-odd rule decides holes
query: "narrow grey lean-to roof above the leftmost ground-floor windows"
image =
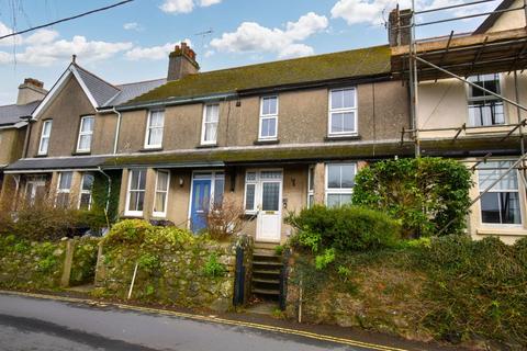
{"label": "narrow grey lean-to roof above the leftmost ground-floor windows", "polygon": [[77,157],[46,157],[23,158],[9,165],[7,171],[35,171],[55,169],[82,169],[97,168],[103,163],[105,156],[77,156]]}

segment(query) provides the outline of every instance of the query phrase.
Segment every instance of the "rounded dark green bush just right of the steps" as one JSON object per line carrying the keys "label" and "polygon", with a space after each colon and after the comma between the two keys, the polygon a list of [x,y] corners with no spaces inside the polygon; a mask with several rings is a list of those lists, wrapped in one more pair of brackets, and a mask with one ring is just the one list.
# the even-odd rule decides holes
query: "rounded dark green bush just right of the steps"
{"label": "rounded dark green bush just right of the steps", "polygon": [[357,206],[315,205],[287,218],[298,229],[292,244],[313,252],[375,250],[392,247],[399,239],[399,225],[388,215]]}

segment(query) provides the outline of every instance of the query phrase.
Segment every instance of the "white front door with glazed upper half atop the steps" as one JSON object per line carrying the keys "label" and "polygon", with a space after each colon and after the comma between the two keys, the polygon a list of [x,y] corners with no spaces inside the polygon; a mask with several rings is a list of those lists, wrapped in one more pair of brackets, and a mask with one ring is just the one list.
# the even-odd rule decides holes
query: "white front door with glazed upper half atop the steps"
{"label": "white front door with glazed upper half atop the steps", "polygon": [[282,225],[282,171],[259,172],[256,240],[280,242]]}

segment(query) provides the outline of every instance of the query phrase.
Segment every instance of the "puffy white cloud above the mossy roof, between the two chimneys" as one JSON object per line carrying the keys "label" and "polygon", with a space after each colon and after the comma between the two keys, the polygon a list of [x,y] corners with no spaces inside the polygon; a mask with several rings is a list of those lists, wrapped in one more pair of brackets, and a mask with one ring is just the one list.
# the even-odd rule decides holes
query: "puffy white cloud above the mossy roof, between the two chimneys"
{"label": "puffy white cloud above the mossy roof, between the two chimneys", "polygon": [[285,31],[269,29],[256,22],[242,23],[236,32],[224,33],[222,37],[211,41],[217,52],[226,53],[276,53],[279,57],[298,57],[312,55],[313,48],[301,43],[311,35],[324,31],[327,18],[314,12],[304,14],[296,22],[288,22]]}

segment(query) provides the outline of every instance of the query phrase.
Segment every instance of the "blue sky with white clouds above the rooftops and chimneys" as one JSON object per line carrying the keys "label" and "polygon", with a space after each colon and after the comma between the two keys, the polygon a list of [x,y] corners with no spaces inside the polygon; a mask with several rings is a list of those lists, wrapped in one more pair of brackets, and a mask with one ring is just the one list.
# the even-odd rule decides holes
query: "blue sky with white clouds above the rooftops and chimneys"
{"label": "blue sky with white clouds above the rooftops and chimneys", "polygon": [[[416,0],[430,9],[472,0]],[[0,36],[119,0],[0,0]],[[24,78],[53,87],[71,55],[119,84],[166,77],[181,41],[201,71],[326,54],[388,43],[384,26],[396,0],[134,0],[105,12],[0,39],[0,105],[16,101]],[[411,0],[400,0],[408,8]],[[442,11],[417,21],[492,10],[500,1]],[[483,18],[423,27],[418,37],[474,30]]]}

